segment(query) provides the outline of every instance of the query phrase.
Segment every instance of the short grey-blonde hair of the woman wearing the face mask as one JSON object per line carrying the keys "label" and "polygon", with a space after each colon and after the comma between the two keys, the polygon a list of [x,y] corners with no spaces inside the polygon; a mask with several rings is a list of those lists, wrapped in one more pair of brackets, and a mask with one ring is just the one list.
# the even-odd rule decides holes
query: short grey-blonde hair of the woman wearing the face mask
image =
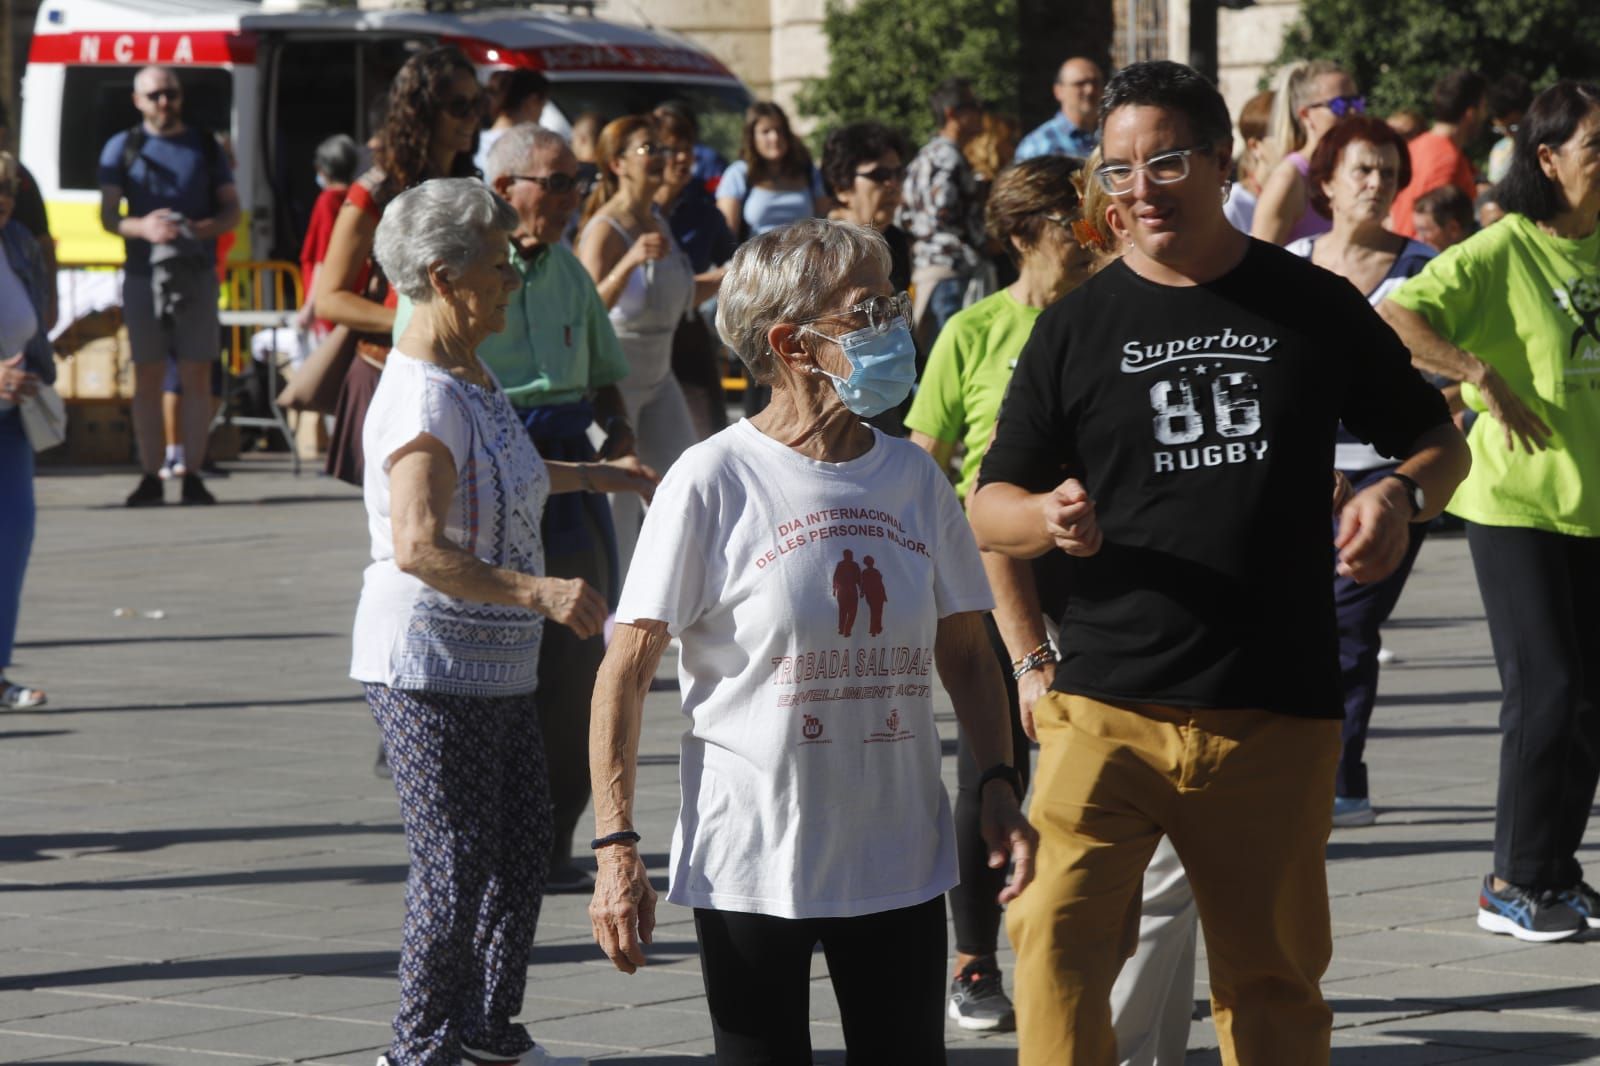
{"label": "short grey-blonde hair of the woman wearing the face mask", "polygon": [[864,259],[890,272],[890,246],[875,229],[808,218],[744,242],[717,293],[717,333],[763,384],[778,378],[766,333],[832,311],[845,279]]}

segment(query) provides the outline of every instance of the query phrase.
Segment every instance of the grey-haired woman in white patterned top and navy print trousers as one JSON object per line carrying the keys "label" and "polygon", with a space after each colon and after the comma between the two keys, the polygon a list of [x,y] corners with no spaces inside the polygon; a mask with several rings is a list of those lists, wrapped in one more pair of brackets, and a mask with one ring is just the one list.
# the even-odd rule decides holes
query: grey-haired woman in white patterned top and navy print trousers
{"label": "grey-haired woman in white patterned top and navy print trousers", "polygon": [[510,1021],[550,847],[533,691],[544,619],[587,637],[606,607],[582,579],[542,576],[539,515],[549,493],[653,480],[634,459],[541,461],[478,360],[506,327],[515,227],[510,205],[453,178],[395,197],[374,237],[414,304],[363,429],[373,563],[350,666],[411,856],[400,1012],[379,1066],[558,1061]]}

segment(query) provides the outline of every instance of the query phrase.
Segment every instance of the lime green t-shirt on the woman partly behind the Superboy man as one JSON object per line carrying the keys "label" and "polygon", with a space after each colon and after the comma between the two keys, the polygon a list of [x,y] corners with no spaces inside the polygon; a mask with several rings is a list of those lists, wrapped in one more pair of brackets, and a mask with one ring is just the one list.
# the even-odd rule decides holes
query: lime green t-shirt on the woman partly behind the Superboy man
{"label": "lime green t-shirt on the woman partly behind the Superboy man", "polygon": [[933,343],[906,426],[934,440],[966,443],[955,485],[962,499],[978,480],[1000,400],[1042,311],[1000,290],[957,312]]}

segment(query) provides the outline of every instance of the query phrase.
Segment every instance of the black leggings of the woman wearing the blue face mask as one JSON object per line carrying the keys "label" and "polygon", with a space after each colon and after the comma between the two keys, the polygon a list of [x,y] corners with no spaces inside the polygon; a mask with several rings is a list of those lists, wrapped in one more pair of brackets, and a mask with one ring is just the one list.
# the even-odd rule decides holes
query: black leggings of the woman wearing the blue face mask
{"label": "black leggings of the woman wearing the blue face mask", "polygon": [[694,909],[717,1066],[811,1066],[822,944],[850,1066],[942,1066],[944,900],[851,919]]}

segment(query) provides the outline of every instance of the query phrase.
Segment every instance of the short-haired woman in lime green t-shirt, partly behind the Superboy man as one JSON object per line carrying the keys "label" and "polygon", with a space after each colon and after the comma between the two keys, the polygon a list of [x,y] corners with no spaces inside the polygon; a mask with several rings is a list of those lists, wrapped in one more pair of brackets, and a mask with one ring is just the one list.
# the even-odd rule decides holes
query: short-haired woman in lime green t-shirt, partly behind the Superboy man
{"label": "short-haired woman in lime green t-shirt, partly behind the Superboy man", "polygon": [[[957,445],[965,447],[955,487],[963,501],[978,479],[978,464],[989,447],[1011,368],[1034,331],[1034,322],[1093,272],[1093,254],[1072,235],[1072,222],[1080,214],[1072,181],[1075,168],[1074,160],[1045,155],[998,174],[989,194],[986,224],[1021,274],[1008,288],[957,312],[946,323],[906,416],[912,442],[941,467],[950,466]],[[1022,728],[1022,707],[1030,707],[1050,688],[1053,655],[1051,661],[1045,661],[1050,642],[1029,565],[986,554],[984,570],[1000,605],[989,619],[989,637],[1005,675],[1011,677],[1013,659],[1027,656],[1030,650],[1045,650],[1019,682],[1008,682],[1011,752],[1026,783],[1029,738]],[[1021,699],[1018,688],[1022,690]],[[1014,1026],[1011,1002],[1002,989],[995,964],[1000,935],[995,896],[1005,885],[1005,871],[989,869],[986,861],[987,850],[978,824],[979,768],[965,738],[960,739],[957,765],[955,832],[962,884],[950,890],[957,951],[950,1016],[965,1029],[1010,1029]]]}

